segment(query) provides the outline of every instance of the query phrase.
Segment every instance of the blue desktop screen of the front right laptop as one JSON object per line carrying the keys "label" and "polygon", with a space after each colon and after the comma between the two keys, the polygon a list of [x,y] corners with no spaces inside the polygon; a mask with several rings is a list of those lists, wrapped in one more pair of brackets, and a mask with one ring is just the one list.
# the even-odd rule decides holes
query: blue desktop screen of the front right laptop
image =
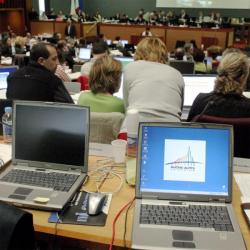
{"label": "blue desktop screen of the front right laptop", "polygon": [[197,126],[141,124],[140,192],[228,196],[231,128]]}

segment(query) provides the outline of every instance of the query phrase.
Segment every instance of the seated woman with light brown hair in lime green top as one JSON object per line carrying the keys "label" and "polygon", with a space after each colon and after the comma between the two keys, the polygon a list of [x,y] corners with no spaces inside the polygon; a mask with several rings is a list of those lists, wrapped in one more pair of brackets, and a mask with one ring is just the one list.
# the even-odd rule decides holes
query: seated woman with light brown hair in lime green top
{"label": "seated woman with light brown hair in lime green top", "polygon": [[94,62],[89,74],[90,91],[81,92],[78,105],[89,106],[92,112],[124,113],[123,100],[113,96],[121,85],[122,65],[111,56]]}

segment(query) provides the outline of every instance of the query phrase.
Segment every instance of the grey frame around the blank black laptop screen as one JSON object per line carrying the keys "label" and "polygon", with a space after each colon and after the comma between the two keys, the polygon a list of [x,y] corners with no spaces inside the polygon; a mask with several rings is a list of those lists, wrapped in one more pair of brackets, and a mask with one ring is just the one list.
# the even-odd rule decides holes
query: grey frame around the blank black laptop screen
{"label": "grey frame around the blank black laptop screen", "polygon": [[[16,158],[16,144],[15,144],[15,138],[16,138],[16,107],[17,106],[32,106],[32,107],[50,107],[50,108],[63,108],[63,109],[81,109],[84,112],[87,112],[86,115],[86,126],[87,126],[87,132],[84,135],[85,136],[85,143],[84,143],[84,165],[69,165],[69,164],[60,164],[60,163],[51,163],[51,162],[42,162],[42,161],[30,161],[30,160],[24,160],[24,159],[18,159]],[[38,167],[38,168],[46,168],[46,169],[56,169],[56,170],[62,170],[62,171],[68,171],[68,170],[77,170],[82,173],[86,173],[88,171],[88,153],[89,153],[89,123],[90,123],[90,110],[89,107],[86,106],[78,106],[75,104],[65,104],[65,103],[48,103],[48,102],[37,102],[37,101],[14,101],[13,102],[13,132],[12,132],[12,163],[15,164],[22,164],[27,167]]]}

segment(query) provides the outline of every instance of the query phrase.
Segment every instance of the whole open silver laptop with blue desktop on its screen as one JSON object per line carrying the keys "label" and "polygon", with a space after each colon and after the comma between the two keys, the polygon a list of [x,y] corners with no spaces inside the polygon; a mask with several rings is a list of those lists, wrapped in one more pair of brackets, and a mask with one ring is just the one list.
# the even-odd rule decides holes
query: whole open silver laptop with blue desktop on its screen
{"label": "whole open silver laptop with blue desktop on its screen", "polygon": [[245,249],[229,125],[140,123],[132,248]]}

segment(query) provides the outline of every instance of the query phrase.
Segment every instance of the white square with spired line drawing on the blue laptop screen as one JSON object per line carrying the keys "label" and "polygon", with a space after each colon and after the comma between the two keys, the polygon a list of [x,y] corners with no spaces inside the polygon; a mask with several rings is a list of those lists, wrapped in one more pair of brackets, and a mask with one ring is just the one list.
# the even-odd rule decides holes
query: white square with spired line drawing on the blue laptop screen
{"label": "white square with spired line drawing on the blue laptop screen", "polygon": [[166,139],[164,180],[204,182],[206,141]]}

